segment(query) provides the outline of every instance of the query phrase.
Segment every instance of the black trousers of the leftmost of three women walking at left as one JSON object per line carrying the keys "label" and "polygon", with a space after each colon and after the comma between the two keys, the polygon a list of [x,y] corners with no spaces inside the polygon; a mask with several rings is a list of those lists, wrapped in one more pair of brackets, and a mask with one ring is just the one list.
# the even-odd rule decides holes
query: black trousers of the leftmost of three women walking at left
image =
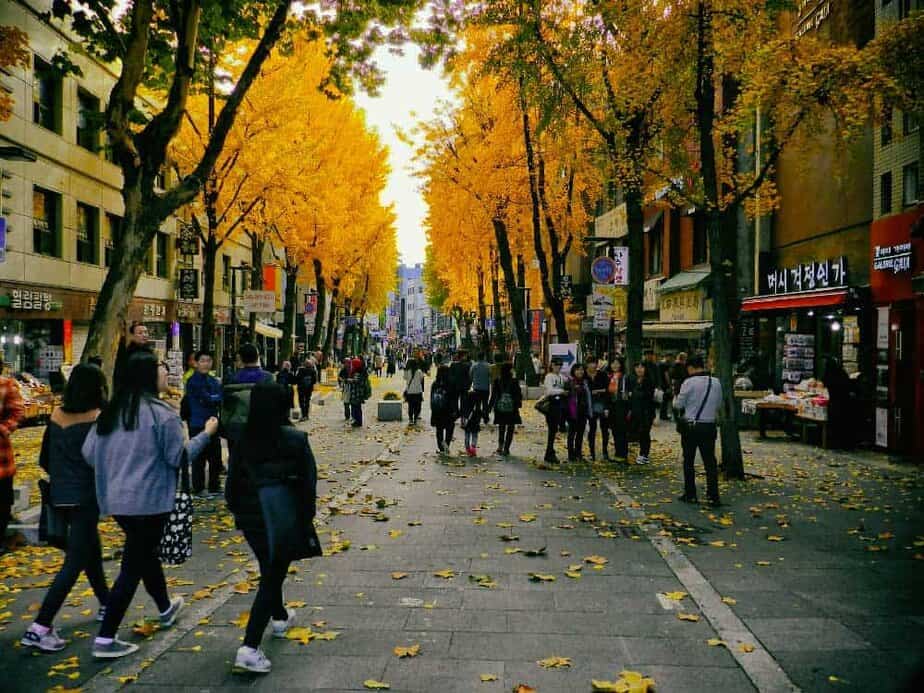
{"label": "black trousers of the leftmost of three women walking at left", "polygon": [[61,570],[48,588],[35,622],[50,628],[67,595],[71,593],[80,573],[86,573],[97,601],[103,606],[109,601],[109,587],[103,572],[103,552],[99,543],[99,508],[96,504],[79,505],[62,510],[67,514],[67,552]]}

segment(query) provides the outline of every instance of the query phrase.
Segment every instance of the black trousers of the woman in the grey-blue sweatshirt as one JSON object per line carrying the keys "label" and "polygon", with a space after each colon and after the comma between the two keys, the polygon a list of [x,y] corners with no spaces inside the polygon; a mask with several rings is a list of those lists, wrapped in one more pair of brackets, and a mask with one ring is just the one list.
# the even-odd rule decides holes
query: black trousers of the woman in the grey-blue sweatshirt
{"label": "black trousers of the woman in the grey-blue sweatshirt", "polygon": [[122,566],[109,592],[106,617],[99,629],[101,638],[114,638],[135,597],[138,583],[151,595],[160,613],[170,608],[164,569],[157,556],[157,548],[164,534],[168,515],[116,515],[115,521],[125,532],[122,549]]}

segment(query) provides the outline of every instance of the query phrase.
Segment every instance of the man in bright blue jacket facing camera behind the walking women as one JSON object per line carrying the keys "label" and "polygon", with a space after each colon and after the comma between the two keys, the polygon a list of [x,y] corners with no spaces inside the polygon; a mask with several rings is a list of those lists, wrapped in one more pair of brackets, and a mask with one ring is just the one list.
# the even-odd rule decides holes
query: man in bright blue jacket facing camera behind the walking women
{"label": "man in bright blue jacket facing camera behind the walking women", "polygon": [[[212,355],[207,351],[196,353],[196,372],[186,383],[186,403],[189,408],[189,437],[202,433],[205,422],[217,417],[221,408],[222,386],[218,378],[210,375]],[[208,492],[221,493],[221,440],[216,436],[201,455],[192,462],[192,492],[201,495],[205,491],[205,470],[208,466]]]}

